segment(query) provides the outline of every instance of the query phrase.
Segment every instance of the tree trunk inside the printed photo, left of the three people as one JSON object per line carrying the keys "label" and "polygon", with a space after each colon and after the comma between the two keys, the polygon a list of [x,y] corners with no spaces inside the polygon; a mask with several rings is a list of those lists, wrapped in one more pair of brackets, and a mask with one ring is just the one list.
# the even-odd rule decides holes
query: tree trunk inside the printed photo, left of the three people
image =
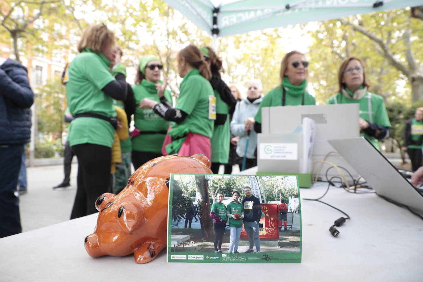
{"label": "tree trunk inside the printed photo, left of the three people", "polygon": [[201,230],[203,230],[204,237],[209,238],[214,235],[213,219],[210,217],[209,181],[205,175],[195,175],[195,183]]}

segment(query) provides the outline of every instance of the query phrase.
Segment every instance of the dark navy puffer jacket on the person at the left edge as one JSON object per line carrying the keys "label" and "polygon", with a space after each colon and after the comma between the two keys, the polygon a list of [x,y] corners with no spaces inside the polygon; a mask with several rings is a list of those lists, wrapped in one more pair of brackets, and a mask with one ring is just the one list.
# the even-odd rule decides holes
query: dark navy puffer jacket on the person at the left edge
{"label": "dark navy puffer jacket on the person at the left edge", "polygon": [[33,102],[27,69],[7,59],[0,65],[0,144],[30,141]]}

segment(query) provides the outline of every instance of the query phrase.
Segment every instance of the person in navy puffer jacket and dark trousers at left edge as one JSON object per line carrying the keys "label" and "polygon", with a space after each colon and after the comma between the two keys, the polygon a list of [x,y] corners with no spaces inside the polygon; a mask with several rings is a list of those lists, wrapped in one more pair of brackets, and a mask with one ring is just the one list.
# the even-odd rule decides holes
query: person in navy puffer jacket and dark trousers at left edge
{"label": "person in navy puffer jacket and dark trousers at left edge", "polygon": [[0,238],[22,232],[19,199],[14,192],[24,145],[30,142],[33,102],[27,69],[0,58]]}

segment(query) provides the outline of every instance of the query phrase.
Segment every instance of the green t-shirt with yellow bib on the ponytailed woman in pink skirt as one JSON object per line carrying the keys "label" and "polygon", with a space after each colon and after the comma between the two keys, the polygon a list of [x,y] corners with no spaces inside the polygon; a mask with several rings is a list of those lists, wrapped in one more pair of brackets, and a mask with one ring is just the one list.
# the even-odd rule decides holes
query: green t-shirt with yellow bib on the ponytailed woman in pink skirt
{"label": "green t-shirt with yellow bib on the ponytailed woman in pink skirt", "polygon": [[210,82],[197,68],[185,75],[180,85],[180,94],[175,109],[188,115],[181,123],[172,123],[172,128],[184,126],[195,134],[211,138],[216,119],[216,97]]}

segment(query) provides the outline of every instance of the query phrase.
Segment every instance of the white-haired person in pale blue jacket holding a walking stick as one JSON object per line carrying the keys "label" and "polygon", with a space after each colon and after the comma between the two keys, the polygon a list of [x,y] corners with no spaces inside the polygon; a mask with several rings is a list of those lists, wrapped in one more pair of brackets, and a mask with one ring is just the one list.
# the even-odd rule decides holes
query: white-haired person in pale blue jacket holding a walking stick
{"label": "white-haired person in pale blue jacket holding a walking stick", "polygon": [[[257,133],[254,131],[254,117],[257,114],[260,102],[263,99],[263,87],[259,80],[252,80],[247,85],[247,98],[242,99],[236,104],[235,112],[231,121],[231,133],[239,136],[238,144],[236,145],[236,153],[242,162],[245,154],[245,146],[247,145],[248,132],[250,133],[250,140],[248,141],[247,158],[245,168],[255,167],[257,165],[256,147],[257,147]],[[240,164],[240,167],[241,164]]]}

